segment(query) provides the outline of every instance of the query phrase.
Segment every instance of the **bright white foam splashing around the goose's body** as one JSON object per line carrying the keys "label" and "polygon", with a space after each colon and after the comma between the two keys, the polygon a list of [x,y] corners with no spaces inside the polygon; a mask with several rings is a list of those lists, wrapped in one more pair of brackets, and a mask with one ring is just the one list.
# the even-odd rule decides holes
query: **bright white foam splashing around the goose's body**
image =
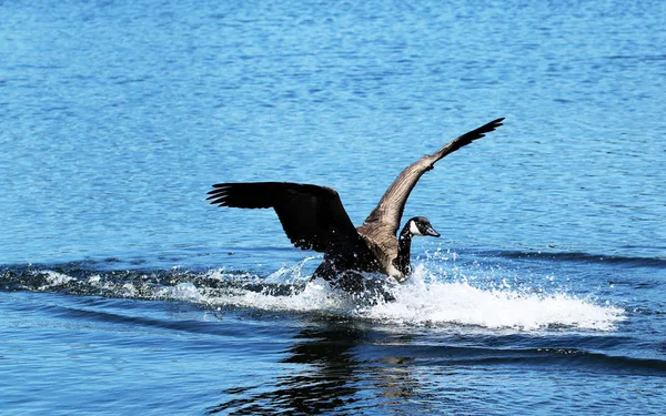
{"label": "bright white foam splashing around the goose's body", "polygon": [[518,331],[572,327],[613,331],[624,321],[624,311],[601,306],[564,293],[543,294],[504,288],[480,288],[467,282],[437,282],[422,265],[412,278],[392,287],[395,302],[380,300],[360,304],[332,290],[325,282],[311,282],[300,293],[275,296],[240,291],[208,298],[213,305],[236,305],[270,311],[343,314],[398,325],[463,325]]}

